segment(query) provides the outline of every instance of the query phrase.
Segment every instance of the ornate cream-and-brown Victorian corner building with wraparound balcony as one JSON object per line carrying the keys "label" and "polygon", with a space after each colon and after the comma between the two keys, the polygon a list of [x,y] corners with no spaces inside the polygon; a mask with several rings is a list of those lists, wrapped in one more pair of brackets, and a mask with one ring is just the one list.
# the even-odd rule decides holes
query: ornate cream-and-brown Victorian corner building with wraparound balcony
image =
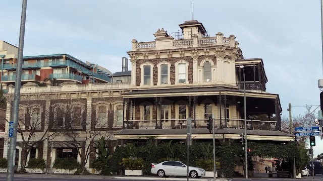
{"label": "ornate cream-and-brown Victorian corner building with wraparound balcony", "polygon": [[[24,160],[19,155],[22,155],[23,147],[28,146],[33,148],[34,156],[47,160],[48,166],[57,157],[74,156],[81,160],[86,148],[95,149],[96,141],[106,132],[111,133],[106,143],[110,149],[127,142],[145,143],[147,137],[154,137],[156,142],[174,140],[183,143],[188,118],[192,118],[194,142],[210,141],[212,134],[207,129],[210,118],[214,119],[217,142],[241,139],[244,133],[244,84],[248,140],[293,141],[293,135],[280,132],[282,109],[279,95],[266,92],[267,77],[262,59],[244,58],[234,35],[224,37],[217,33],[207,36],[205,27],[198,21],[186,21],[179,26],[182,35],[178,37],[158,29],[154,41],[137,42],[133,39],[132,49],[127,52],[131,71],[127,58],[123,58],[123,70],[111,74],[112,81],[109,79],[103,83],[104,79],[94,76],[102,83],[85,82],[85,77],[91,75],[91,67],[67,54],[57,55],[58,61],[68,61],[62,63],[65,72],[83,76],[82,79],[68,78],[70,81],[60,85],[46,86],[27,81],[29,83],[21,89],[22,117],[19,121],[25,127],[20,129],[24,134],[18,138],[18,166]],[[28,63],[33,60],[37,64],[39,58],[25,57],[24,60]],[[48,63],[49,59],[45,61],[43,58],[44,61],[39,63]],[[80,72],[76,69],[79,66],[88,69]],[[63,70],[54,72],[56,67],[47,67],[52,71],[50,73],[62,75]],[[96,72],[95,69],[92,70]],[[8,100],[13,98],[13,93],[14,88],[9,86]],[[10,119],[10,107],[9,101],[7,119]],[[40,125],[35,124],[38,120],[41,120]],[[37,129],[38,137],[44,133],[58,135],[48,136],[48,139],[35,136],[30,143],[23,143],[21,136],[28,135],[32,130],[30,127]],[[70,131],[66,131],[66,127]],[[87,139],[89,131],[101,132]],[[71,137],[67,132],[78,136]],[[7,145],[5,143],[5,147]],[[81,155],[77,154],[78,149]],[[6,154],[4,151],[4,156]],[[89,162],[95,153],[88,156],[86,167],[90,168]],[[264,164],[259,165],[264,168]],[[263,168],[259,166],[259,170],[263,171]],[[236,170],[242,172],[242,165],[237,165]]]}

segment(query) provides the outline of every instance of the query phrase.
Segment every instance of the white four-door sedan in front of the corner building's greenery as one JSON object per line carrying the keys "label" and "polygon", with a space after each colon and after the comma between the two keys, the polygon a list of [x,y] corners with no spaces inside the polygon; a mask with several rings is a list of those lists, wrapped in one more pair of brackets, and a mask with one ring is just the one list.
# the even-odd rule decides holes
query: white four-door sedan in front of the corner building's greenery
{"label": "white four-door sedan in front of the corner building's greenery", "polygon": [[[189,166],[189,176],[198,178],[205,176],[205,170],[202,168]],[[159,177],[166,176],[187,176],[187,165],[180,161],[164,161],[161,163],[151,163],[151,173]]]}

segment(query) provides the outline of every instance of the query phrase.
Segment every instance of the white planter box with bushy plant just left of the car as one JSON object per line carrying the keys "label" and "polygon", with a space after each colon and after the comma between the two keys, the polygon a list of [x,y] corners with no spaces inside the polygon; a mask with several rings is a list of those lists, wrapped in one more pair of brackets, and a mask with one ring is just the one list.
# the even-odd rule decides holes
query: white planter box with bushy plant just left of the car
{"label": "white planter box with bushy plant just left of the car", "polygon": [[125,175],[143,175],[146,163],[142,158],[122,158],[120,165],[125,168]]}

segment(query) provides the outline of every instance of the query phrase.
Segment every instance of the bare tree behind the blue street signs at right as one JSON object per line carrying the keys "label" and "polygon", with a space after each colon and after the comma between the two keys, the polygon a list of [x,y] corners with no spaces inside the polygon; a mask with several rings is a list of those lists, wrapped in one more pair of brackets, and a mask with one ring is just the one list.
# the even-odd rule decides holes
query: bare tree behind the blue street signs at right
{"label": "bare tree behind the blue street signs at right", "polygon": [[[312,110],[312,106],[306,106],[306,111],[303,114],[299,114],[294,117],[292,116],[293,133],[294,133],[295,127],[308,127],[308,126],[315,125],[315,119],[317,119],[317,116],[316,116],[317,108]],[[282,132],[290,133],[289,117],[284,116],[282,118],[281,130]],[[298,137],[297,141],[305,145],[308,140],[307,140],[307,137]]]}

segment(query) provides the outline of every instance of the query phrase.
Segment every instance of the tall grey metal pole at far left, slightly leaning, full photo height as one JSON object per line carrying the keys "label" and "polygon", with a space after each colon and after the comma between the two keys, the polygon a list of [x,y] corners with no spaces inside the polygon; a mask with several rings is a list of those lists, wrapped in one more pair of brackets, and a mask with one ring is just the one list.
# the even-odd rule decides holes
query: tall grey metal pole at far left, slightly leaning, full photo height
{"label": "tall grey metal pole at far left, slightly leaning, full photo height", "polygon": [[9,154],[8,154],[7,181],[14,180],[18,115],[19,115],[19,102],[20,102],[22,57],[23,57],[23,53],[24,53],[24,39],[25,39],[25,25],[26,25],[26,11],[27,11],[27,0],[23,0],[22,1],[22,11],[21,11],[21,21],[20,21],[18,62],[17,62],[17,70],[16,70],[17,75],[16,75],[16,82],[15,82],[15,94],[14,94],[14,101],[13,101],[13,114],[11,117],[12,121],[14,122],[14,130],[13,130],[13,137],[10,138],[10,146],[9,146]]}

